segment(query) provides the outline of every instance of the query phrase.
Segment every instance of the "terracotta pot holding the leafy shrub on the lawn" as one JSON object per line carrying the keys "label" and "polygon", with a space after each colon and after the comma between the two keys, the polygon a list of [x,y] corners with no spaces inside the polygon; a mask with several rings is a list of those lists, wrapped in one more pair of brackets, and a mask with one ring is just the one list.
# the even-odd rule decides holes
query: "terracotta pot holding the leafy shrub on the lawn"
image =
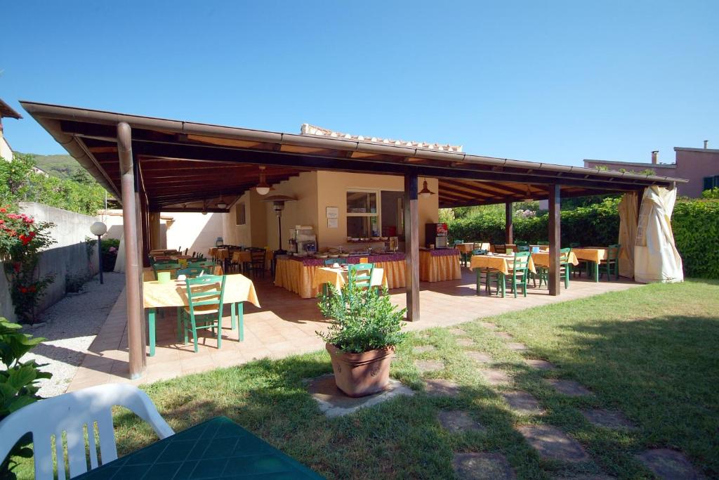
{"label": "terracotta pot holding the leafy shrub on the lawn", "polygon": [[325,348],[332,361],[334,382],[349,397],[365,397],[387,387],[395,353],[393,346],[365,353],[344,353],[331,343]]}

